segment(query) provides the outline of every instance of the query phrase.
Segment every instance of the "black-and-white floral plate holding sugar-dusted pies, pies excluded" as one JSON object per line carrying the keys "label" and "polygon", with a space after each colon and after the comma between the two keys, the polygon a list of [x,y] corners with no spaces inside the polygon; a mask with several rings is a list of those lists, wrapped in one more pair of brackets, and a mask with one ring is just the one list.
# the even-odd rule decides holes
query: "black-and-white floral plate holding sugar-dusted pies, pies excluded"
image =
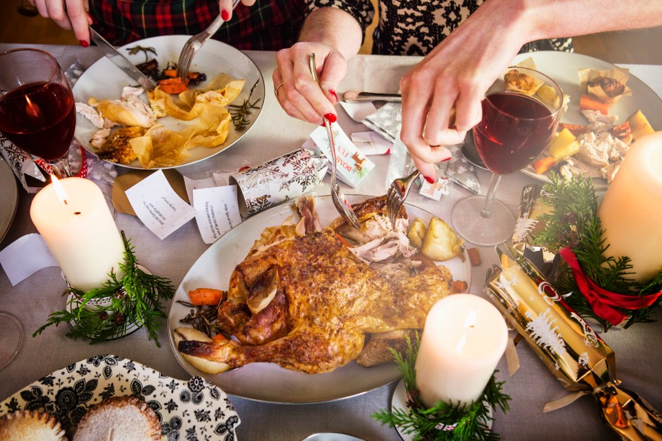
{"label": "black-and-white floral plate holding sugar-dusted pies, pies excluded", "polygon": [[175,380],[112,355],[81,360],[39,378],[0,402],[0,416],[21,410],[46,412],[71,436],[92,405],[128,395],[154,409],[165,440],[237,440],[239,416],[219,387],[198,376]]}

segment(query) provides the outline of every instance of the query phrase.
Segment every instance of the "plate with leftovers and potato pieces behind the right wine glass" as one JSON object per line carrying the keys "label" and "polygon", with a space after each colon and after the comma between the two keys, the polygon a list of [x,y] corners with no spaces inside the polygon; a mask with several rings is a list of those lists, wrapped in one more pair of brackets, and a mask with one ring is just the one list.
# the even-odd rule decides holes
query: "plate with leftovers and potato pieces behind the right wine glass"
{"label": "plate with leftovers and potato pieces behind the right wine glass", "polygon": [[[525,174],[549,182],[550,173],[592,177],[606,188],[630,143],[662,130],[662,99],[627,69],[571,52],[519,54],[513,65],[532,59],[534,68],[559,84],[567,101],[550,146]],[[533,66],[532,66],[533,67]]]}

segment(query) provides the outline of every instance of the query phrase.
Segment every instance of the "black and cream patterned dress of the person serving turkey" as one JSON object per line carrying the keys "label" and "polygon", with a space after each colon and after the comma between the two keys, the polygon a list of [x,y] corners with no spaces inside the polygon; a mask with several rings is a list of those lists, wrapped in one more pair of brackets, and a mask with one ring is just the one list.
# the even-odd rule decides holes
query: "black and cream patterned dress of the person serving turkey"
{"label": "black and cream patterned dress of the person serving turkey", "polygon": [[[379,25],[374,30],[372,53],[425,55],[478,9],[483,0],[379,0]],[[370,0],[308,0],[308,12],[331,6],[348,12],[364,32],[372,23]],[[572,52],[572,39],[526,43],[520,52],[563,50]]]}

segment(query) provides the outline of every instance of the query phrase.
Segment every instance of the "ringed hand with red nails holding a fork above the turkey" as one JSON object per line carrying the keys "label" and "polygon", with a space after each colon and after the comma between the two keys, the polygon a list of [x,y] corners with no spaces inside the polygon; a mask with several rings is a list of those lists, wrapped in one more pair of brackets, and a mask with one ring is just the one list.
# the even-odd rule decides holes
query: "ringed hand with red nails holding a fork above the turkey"
{"label": "ringed hand with red nails holding a fork above the turkey", "polygon": [[[315,54],[319,84],[310,74],[310,54]],[[347,61],[340,52],[322,43],[295,43],[276,54],[278,63],[272,78],[276,98],[288,115],[317,125],[326,118],[336,121],[333,105],[336,89],[347,73]]]}

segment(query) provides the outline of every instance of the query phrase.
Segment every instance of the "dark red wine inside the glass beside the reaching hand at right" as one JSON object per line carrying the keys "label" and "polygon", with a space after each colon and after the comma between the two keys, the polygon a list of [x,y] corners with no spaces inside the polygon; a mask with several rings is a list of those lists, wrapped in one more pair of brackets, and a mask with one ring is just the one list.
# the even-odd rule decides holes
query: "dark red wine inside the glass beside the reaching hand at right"
{"label": "dark red wine inside the glass beside the reaching hand at right", "polygon": [[483,163],[496,174],[521,170],[552,141],[556,119],[530,96],[497,92],[483,99],[483,119],[474,127],[474,143]]}

